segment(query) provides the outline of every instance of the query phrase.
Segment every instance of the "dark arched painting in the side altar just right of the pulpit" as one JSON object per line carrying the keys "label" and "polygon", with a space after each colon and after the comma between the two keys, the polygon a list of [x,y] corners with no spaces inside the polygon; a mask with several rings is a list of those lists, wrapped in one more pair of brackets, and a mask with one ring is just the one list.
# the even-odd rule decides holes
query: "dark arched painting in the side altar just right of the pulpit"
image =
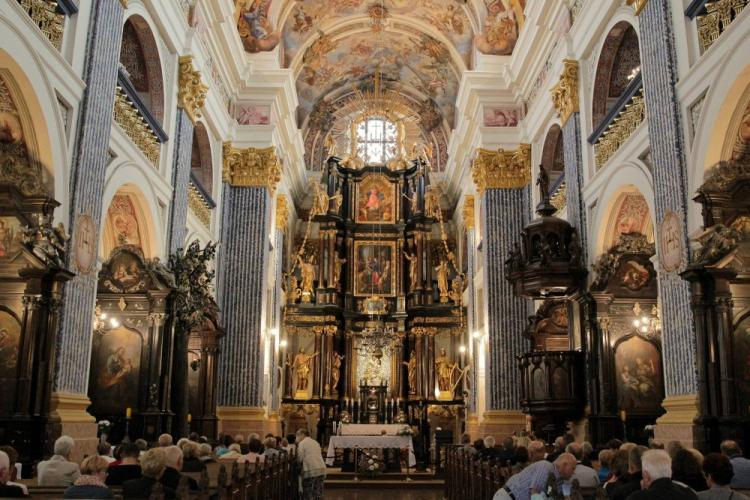
{"label": "dark arched painting in the side altar just right of the pulpit", "polygon": [[621,342],[615,351],[617,402],[621,410],[658,412],[664,398],[661,355],[656,346],[638,335]]}

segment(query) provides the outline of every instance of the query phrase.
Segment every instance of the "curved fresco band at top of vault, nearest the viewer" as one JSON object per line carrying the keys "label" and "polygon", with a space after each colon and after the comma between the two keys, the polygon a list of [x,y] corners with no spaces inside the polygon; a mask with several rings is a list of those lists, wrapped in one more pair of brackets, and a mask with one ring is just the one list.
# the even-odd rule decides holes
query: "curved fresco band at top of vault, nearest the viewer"
{"label": "curved fresco band at top of vault, nearest the viewer", "polygon": [[[382,10],[380,10],[382,9]],[[473,32],[464,2],[456,0],[305,0],[295,2],[284,24],[284,58],[289,66],[310,37],[334,19],[379,15],[409,16],[448,38],[468,65]],[[379,13],[382,12],[382,14]],[[413,31],[413,28],[412,28]]]}

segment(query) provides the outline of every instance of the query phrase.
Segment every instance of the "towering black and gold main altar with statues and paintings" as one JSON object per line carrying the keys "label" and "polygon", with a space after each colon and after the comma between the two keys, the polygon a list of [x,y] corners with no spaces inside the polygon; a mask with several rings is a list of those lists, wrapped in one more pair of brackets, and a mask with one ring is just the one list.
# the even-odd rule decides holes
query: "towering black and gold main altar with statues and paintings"
{"label": "towering black and gold main altar with statues and paintings", "polygon": [[281,416],[287,431],[315,421],[323,443],[348,423],[411,425],[426,447],[431,420],[461,431],[465,249],[431,184],[431,152],[415,144],[407,154],[403,128],[385,118],[352,130],[375,126],[379,137],[392,134],[385,147],[395,154],[368,161],[371,144],[369,153],[352,146],[341,156],[332,147],[310,208],[297,209],[284,280]]}

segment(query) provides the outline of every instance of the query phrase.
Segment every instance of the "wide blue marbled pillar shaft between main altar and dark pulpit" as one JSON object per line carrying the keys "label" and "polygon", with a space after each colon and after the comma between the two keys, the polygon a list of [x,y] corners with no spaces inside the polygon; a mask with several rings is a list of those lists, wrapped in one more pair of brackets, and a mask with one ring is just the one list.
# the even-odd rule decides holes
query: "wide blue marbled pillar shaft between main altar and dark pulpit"
{"label": "wide blue marbled pillar shaft between main altar and dark pulpit", "polygon": [[505,279],[505,260],[529,221],[530,193],[487,189],[481,202],[484,228],[484,287],[489,335],[486,370],[488,410],[520,410],[521,381],[516,356],[528,349],[523,337],[529,301],[515,296]]}

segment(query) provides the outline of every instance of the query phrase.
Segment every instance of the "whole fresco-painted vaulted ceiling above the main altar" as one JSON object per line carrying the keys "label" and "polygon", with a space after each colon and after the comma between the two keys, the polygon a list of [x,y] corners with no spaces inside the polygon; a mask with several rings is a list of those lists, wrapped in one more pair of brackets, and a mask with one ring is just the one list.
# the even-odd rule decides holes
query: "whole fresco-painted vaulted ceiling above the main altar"
{"label": "whole fresco-painted vaulted ceiling above the main altar", "polygon": [[[410,142],[445,165],[461,74],[476,52],[512,53],[525,0],[236,0],[245,50],[278,51],[296,78],[308,168],[322,165],[329,133],[339,150],[365,100],[393,98]],[[396,102],[397,101],[397,102]],[[392,108],[392,109],[391,109]],[[343,140],[343,139],[342,139]],[[442,156],[441,156],[442,155]]]}

